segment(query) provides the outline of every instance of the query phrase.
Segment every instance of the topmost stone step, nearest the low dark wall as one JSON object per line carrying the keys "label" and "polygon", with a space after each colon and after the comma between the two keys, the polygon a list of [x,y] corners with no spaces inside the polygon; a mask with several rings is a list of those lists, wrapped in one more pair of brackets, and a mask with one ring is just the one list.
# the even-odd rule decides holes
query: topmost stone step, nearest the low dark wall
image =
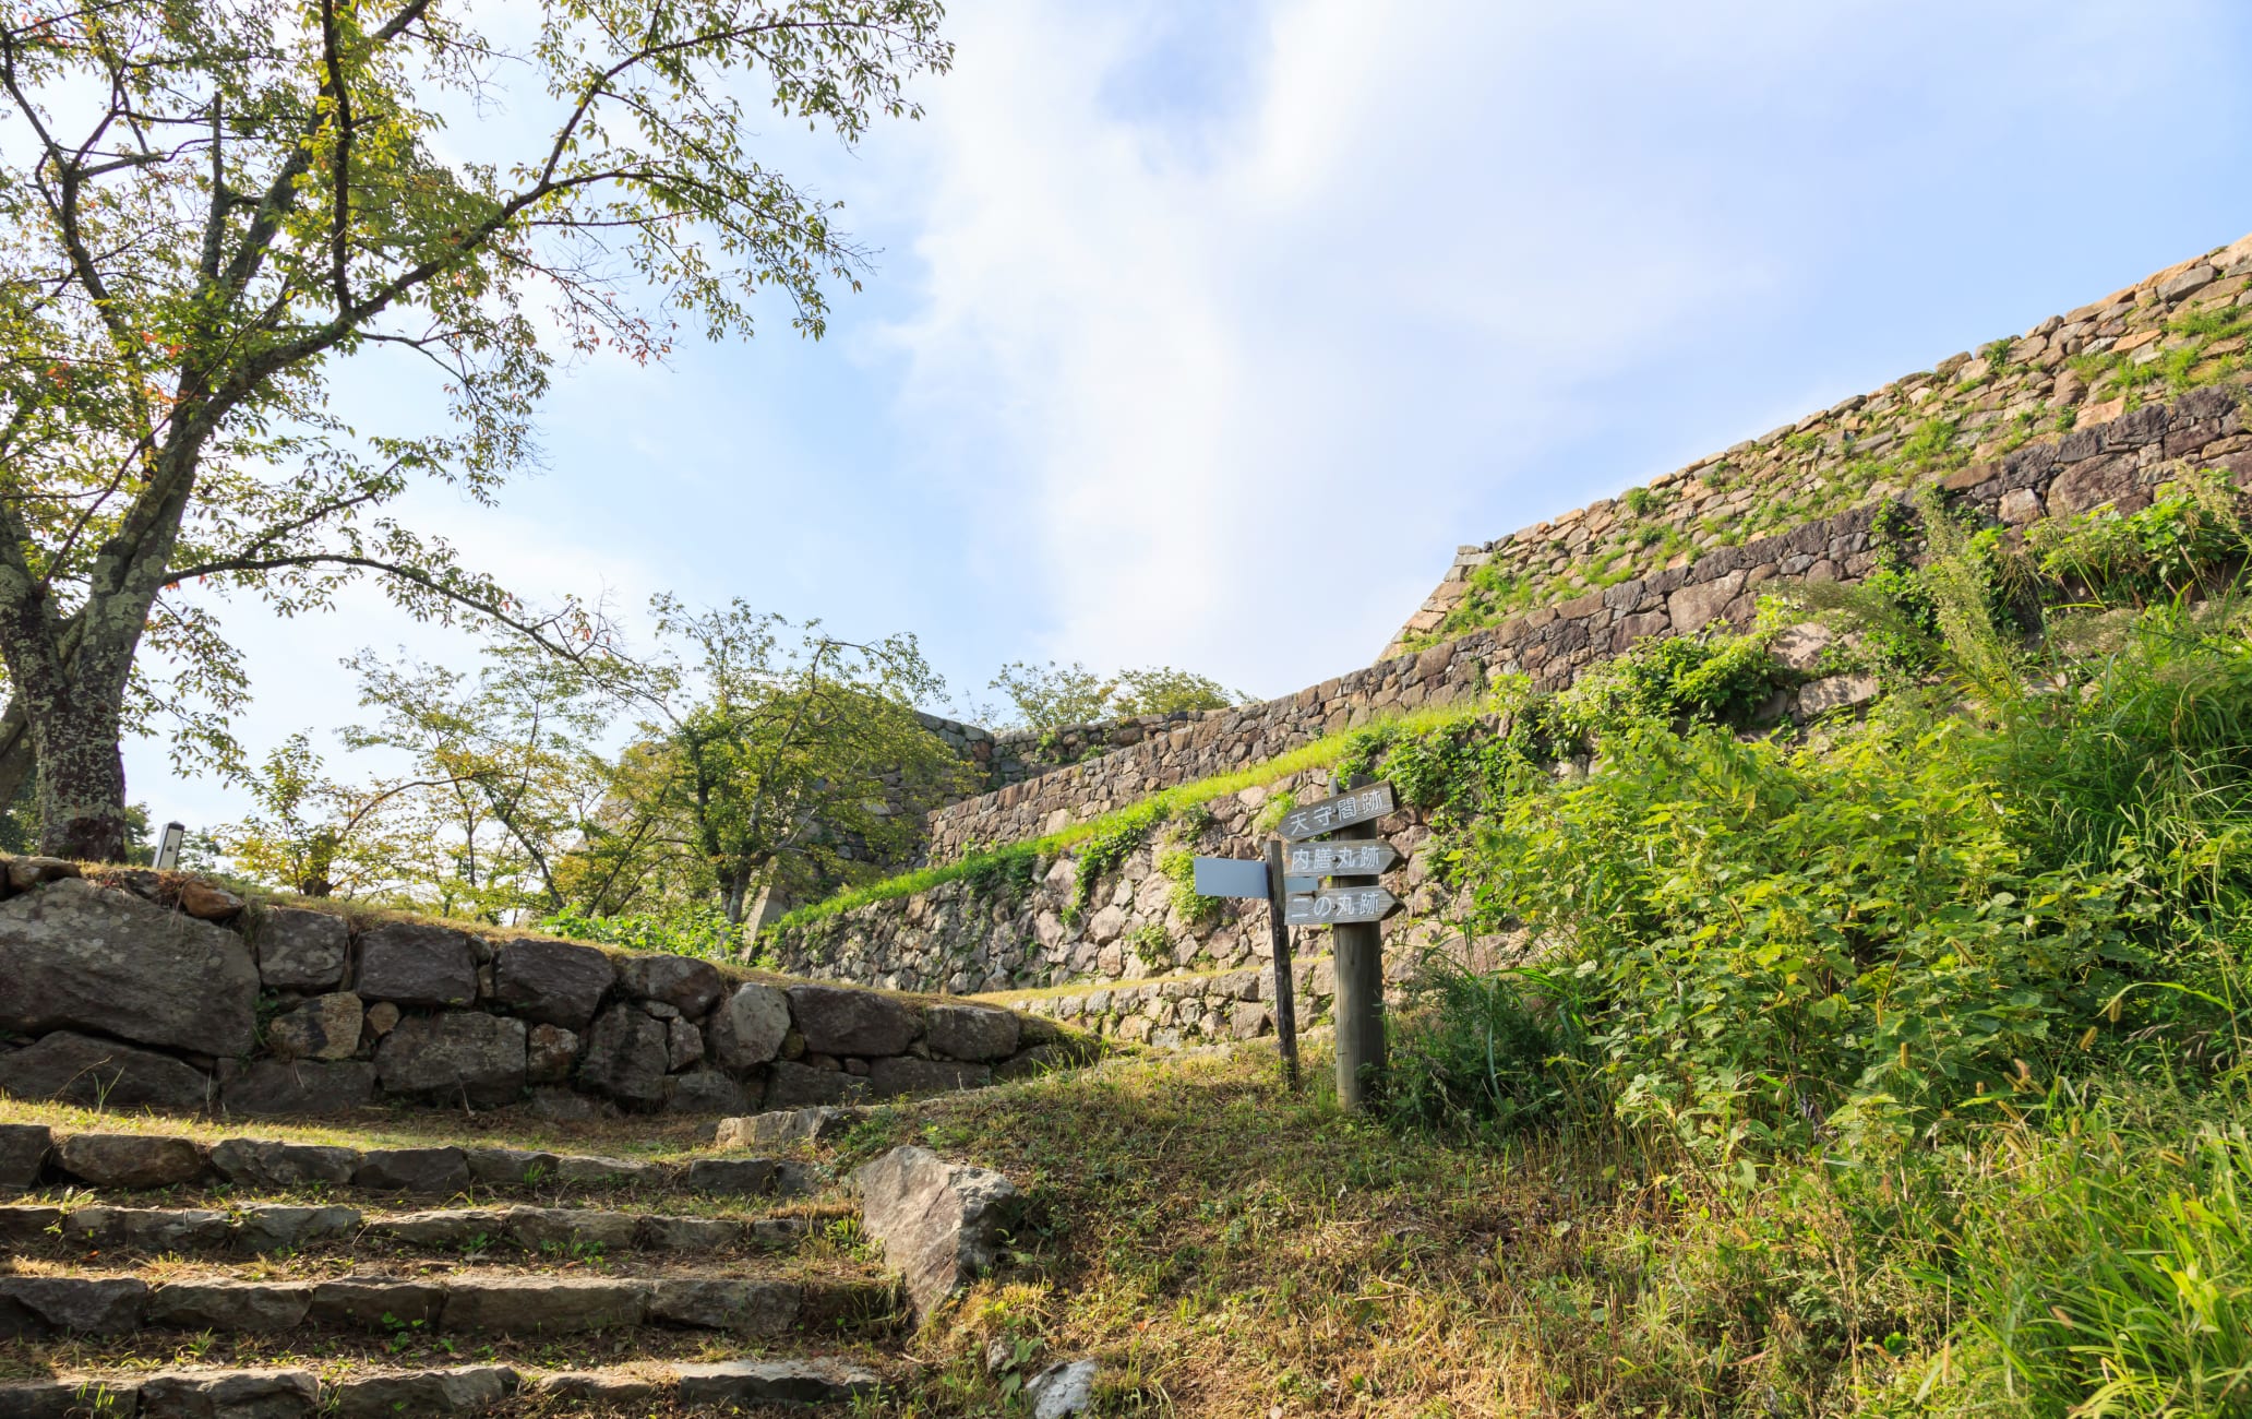
{"label": "topmost stone step, nearest the low dark wall", "polygon": [[820,1187],[820,1169],[788,1158],[712,1155],[642,1162],[581,1153],[538,1153],[437,1144],[426,1149],[347,1149],[263,1137],[214,1144],[164,1133],[70,1133],[43,1124],[0,1124],[0,1189],[45,1182],[106,1192],[155,1187],[351,1187],[394,1196],[459,1192],[691,1192],[705,1196],[799,1196]]}

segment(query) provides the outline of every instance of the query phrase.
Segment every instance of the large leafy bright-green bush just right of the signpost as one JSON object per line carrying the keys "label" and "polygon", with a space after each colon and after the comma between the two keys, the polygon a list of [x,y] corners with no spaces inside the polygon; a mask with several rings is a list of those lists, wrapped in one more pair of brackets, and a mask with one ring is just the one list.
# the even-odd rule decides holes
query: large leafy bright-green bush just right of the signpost
{"label": "large leafy bright-green bush just right of the signpost", "polygon": [[1594,975],[1630,1122],[1712,1158],[1813,1142],[1849,1104],[1930,1124],[2101,1020],[2139,962],[2133,883],[2029,860],[1966,732],[1628,730],[1603,773],[1480,829],[1480,910]]}

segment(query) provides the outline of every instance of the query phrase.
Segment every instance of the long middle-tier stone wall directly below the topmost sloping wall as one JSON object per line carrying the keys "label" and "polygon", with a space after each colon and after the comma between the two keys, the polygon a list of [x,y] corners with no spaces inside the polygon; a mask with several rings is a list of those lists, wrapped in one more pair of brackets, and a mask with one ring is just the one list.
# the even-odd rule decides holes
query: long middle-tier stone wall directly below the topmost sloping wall
{"label": "long middle-tier stone wall directly below the topmost sloping wall", "polygon": [[[1948,496],[2022,527],[2106,502],[2148,505],[2175,466],[2218,466],[2243,480],[2252,468],[2243,430],[2243,385],[2191,390],[2101,423],[2025,444],[2009,455],[1937,478]],[[2085,410],[2083,410],[2085,414]],[[1216,712],[1101,759],[950,804],[930,815],[930,858],[955,860],[977,845],[1022,842],[1099,818],[1162,788],[1232,773],[1360,725],[1380,714],[1466,703],[1495,676],[1522,673],[1540,689],[1570,685],[1588,664],[1651,635],[1687,635],[1712,622],[1743,624],[1768,583],[1853,581],[1869,572],[1869,529],[1905,496],[1849,507],[1777,536],[1707,550],[1691,563],[1585,590],[1513,615],[1426,651],[1394,655],[1279,700]]]}

